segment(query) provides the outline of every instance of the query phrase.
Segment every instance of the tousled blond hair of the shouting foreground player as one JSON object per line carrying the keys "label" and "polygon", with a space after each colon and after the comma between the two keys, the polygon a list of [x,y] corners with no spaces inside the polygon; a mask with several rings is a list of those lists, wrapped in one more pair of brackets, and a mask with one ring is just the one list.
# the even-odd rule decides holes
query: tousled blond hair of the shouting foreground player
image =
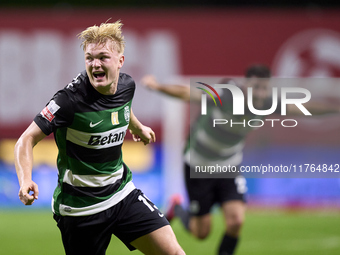
{"label": "tousled blond hair of the shouting foreground player", "polygon": [[80,46],[83,46],[83,50],[85,51],[87,45],[90,43],[105,44],[107,40],[112,40],[115,45],[115,50],[123,54],[125,41],[122,35],[122,26],[123,23],[117,20],[114,23],[102,23],[100,26],[94,25],[88,27],[78,35],[78,38],[82,40]]}

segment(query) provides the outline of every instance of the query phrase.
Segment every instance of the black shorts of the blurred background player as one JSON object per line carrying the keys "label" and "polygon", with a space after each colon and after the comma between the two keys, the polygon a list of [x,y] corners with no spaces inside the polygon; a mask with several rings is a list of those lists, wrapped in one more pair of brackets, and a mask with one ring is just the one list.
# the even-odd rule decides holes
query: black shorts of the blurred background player
{"label": "black shorts of the blurred background player", "polygon": [[246,179],[235,178],[190,178],[190,166],[184,164],[185,184],[190,200],[190,213],[202,216],[210,213],[215,203],[222,204],[230,200],[246,202]]}

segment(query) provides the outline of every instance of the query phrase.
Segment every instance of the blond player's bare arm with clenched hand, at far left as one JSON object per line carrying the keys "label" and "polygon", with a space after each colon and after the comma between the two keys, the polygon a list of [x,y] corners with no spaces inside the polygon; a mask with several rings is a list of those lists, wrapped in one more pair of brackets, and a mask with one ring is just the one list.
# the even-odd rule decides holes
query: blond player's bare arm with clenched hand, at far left
{"label": "blond player's bare arm with clenched hand, at far left", "polygon": [[31,205],[38,199],[38,185],[32,180],[33,147],[45,136],[38,125],[32,122],[15,144],[14,160],[20,185],[19,198],[24,205]]}

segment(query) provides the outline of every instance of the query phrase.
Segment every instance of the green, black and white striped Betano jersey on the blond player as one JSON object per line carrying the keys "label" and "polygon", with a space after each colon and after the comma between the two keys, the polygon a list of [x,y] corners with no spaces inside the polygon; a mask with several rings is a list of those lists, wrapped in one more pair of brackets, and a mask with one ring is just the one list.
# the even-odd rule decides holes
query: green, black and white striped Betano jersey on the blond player
{"label": "green, black and white striped Betano jersey on the blond player", "polygon": [[34,121],[58,146],[58,185],[52,210],[84,216],[110,208],[133,189],[121,146],[129,125],[135,82],[124,73],[114,95],[97,92],[86,72],[58,91]]}

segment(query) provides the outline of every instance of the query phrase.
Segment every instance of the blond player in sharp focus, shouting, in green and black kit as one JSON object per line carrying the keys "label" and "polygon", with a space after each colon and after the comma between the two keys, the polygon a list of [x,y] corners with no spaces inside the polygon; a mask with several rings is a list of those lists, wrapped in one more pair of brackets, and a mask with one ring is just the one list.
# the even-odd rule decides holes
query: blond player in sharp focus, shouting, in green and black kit
{"label": "blond player in sharp focus, shouting, in green and black kit", "polygon": [[25,205],[38,199],[32,151],[53,132],[59,154],[52,210],[66,254],[105,254],[112,234],[144,254],[184,254],[169,222],[136,189],[122,160],[127,129],[145,145],[156,138],[131,109],[135,82],[120,73],[121,26],[104,23],[79,35],[86,71],[53,96],[15,146],[19,198]]}

